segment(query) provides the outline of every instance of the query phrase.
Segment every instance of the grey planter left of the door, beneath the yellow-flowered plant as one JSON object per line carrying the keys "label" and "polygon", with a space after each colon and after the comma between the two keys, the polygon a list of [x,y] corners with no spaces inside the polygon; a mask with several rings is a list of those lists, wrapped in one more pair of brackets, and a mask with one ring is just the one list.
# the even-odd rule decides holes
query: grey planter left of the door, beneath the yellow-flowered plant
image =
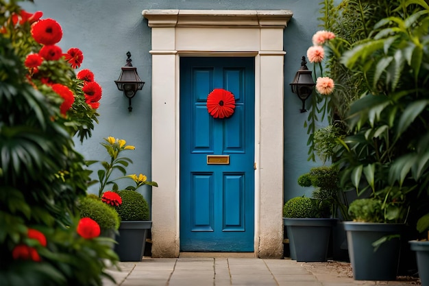
{"label": "grey planter left of the door, beneath the yellow-flowered plant", "polygon": [[119,235],[116,237],[118,244],[114,246],[119,261],[142,261],[147,233],[151,226],[151,221],[121,222]]}

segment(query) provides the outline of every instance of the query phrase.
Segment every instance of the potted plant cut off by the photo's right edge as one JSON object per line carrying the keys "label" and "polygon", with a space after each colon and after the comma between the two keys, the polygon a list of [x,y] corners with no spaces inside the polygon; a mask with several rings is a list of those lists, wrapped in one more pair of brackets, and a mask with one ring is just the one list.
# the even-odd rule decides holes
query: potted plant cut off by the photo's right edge
{"label": "potted plant cut off by the photo's right edge", "polygon": [[417,230],[424,234],[424,237],[408,242],[411,245],[411,250],[416,252],[421,286],[429,286],[429,213],[419,218]]}

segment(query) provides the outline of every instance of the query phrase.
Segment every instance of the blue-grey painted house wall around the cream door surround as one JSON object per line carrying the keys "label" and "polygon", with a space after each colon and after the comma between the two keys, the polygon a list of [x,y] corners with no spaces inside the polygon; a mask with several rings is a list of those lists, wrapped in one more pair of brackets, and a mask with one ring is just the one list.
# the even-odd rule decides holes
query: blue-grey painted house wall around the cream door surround
{"label": "blue-grey painted house wall around the cream door surround", "polygon": [[[128,173],[147,174],[152,180],[156,178],[151,178],[151,29],[147,27],[141,12],[145,9],[293,11],[293,18],[284,30],[284,199],[304,192],[310,195],[311,189],[299,187],[297,178],[319,163],[307,160],[308,136],[304,121],[308,114],[299,112],[301,101],[291,93],[289,83],[300,67],[301,57],[312,45],[312,34],[319,29],[319,1],[34,0],[34,3],[23,3],[23,8],[29,12],[42,11],[43,19],[56,19],[64,33],[58,45],[64,52],[70,47],[81,49],[84,62],[80,69],[93,71],[95,80],[103,88],[99,124],[95,126],[93,136],[83,145],[76,140],[77,150],[88,160],[106,160],[107,153],[99,144],[103,137],[125,139],[136,147],[135,151],[127,153],[134,160]],[[143,90],[138,91],[132,100],[132,112],[128,112],[128,101],[114,84],[121,67],[125,65],[127,51],[132,53],[132,63],[137,67],[140,78],[146,82]],[[123,187],[126,185],[124,182]],[[148,189],[140,191],[150,202]],[[96,193],[97,188],[90,191]]]}

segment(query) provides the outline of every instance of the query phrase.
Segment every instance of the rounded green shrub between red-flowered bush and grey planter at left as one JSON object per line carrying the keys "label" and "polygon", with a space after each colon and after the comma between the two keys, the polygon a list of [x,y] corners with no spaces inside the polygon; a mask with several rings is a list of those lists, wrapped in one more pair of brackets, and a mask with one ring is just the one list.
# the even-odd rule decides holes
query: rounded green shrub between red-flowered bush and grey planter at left
{"label": "rounded green shrub between red-flowered bush and grey planter at left", "polygon": [[101,230],[117,230],[121,220],[117,211],[99,200],[97,195],[88,195],[79,200],[80,217],[90,217],[95,220]]}

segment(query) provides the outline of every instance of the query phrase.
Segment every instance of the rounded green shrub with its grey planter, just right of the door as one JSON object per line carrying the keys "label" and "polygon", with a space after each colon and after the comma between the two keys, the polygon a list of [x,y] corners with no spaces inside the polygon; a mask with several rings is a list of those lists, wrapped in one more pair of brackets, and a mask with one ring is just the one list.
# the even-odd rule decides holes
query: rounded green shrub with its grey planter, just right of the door
{"label": "rounded green shrub with its grey planter, just right of the door", "polygon": [[336,219],[321,217],[319,204],[319,200],[306,197],[291,198],[284,204],[283,222],[289,237],[291,259],[327,260],[330,232]]}

